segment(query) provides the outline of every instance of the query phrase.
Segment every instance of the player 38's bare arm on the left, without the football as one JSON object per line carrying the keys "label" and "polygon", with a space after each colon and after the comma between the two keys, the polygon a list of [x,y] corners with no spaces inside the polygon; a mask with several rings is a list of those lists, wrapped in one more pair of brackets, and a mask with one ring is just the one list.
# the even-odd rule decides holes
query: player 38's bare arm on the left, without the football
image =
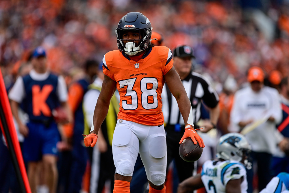
{"label": "player 38's bare arm on the left, without the football", "polygon": [[115,90],[116,82],[105,75],[93,114],[94,130],[90,133],[98,134],[99,128],[108,113],[110,99],[112,98]]}

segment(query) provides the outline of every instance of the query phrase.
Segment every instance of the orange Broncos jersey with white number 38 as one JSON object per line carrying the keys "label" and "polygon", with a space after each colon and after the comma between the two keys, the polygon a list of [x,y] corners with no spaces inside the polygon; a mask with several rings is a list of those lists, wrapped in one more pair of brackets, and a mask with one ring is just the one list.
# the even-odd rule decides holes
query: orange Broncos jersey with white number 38
{"label": "orange Broncos jersey with white number 38", "polygon": [[116,81],[120,95],[118,119],[143,125],[161,125],[164,75],[173,67],[168,47],[152,47],[138,62],[119,50],[103,57],[103,73]]}

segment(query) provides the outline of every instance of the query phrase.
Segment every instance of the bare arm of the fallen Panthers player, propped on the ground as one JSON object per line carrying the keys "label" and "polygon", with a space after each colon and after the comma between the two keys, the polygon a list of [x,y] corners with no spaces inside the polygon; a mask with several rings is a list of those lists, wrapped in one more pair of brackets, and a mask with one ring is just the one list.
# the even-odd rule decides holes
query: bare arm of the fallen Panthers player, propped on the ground
{"label": "bare arm of the fallen Panthers player, propped on the ground", "polygon": [[191,192],[192,190],[197,190],[203,187],[204,184],[201,179],[201,174],[197,174],[181,182],[178,186],[177,193]]}

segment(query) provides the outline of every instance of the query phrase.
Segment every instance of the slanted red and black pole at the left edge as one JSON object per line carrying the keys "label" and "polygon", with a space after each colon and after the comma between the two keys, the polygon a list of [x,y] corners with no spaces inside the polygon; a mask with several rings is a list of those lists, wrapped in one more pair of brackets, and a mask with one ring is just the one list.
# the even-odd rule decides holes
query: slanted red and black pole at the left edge
{"label": "slanted red and black pole at the left edge", "polygon": [[13,162],[16,177],[20,185],[21,191],[23,193],[31,193],[1,70],[0,70],[0,127],[5,137],[11,155],[11,159]]}

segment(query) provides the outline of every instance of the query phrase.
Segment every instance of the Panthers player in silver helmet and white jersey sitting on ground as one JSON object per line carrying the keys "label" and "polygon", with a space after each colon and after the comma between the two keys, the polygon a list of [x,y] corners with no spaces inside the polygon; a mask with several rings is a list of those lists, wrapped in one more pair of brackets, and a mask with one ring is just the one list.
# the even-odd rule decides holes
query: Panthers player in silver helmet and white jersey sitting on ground
{"label": "Panthers player in silver helmet and white jersey sitting on ground", "polygon": [[178,193],[205,187],[208,193],[247,192],[246,168],[251,168],[251,146],[244,135],[228,133],[217,144],[216,160],[203,164],[202,172],[179,184]]}

